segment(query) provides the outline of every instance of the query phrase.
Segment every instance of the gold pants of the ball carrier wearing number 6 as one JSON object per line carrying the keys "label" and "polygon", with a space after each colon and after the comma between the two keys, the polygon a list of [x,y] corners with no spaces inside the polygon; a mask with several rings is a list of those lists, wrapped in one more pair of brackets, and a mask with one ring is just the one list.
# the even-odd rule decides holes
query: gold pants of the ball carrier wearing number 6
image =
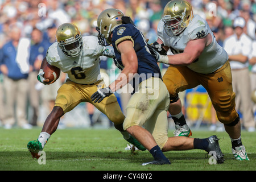
{"label": "gold pants of the ball carrier wearing number 6", "polygon": [[101,85],[103,85],[102,80],[93,85],[76,84],[68,80],[59,88],[55,106],[61,107],[65,114],[74,109],[81,102],[90,102],[116,125],[123,123],[125,116],[114,94],[104,98],[100,103],[94,103],[90,99],[92,94],[97,91],[97,86]]}

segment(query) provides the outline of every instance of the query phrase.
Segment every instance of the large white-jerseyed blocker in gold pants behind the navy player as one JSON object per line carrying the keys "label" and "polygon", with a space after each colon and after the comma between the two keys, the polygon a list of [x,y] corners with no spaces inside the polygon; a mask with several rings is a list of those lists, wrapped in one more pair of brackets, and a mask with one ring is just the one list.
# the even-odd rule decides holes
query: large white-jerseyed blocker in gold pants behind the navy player
{"label": "large white-jerseyed blocker in gold pants behind the navy player", "polygon": [[[249,160],[241,142],[241,123],[235,110],[228,54],[217,44],[208,23],[199,15],[193,15],[187,1],[170,1],[164,8],[158,25],[158,40],[152,48],[151,53],[160,63],[170,64],[163,81],[170,93],[169,112],[175,122],[175,136],[192,135],[181,111],[178,93],[203,85],[218,120],[224,123],[232,140],[235,158]],[[166,55],[169,49],[173,55]]]}

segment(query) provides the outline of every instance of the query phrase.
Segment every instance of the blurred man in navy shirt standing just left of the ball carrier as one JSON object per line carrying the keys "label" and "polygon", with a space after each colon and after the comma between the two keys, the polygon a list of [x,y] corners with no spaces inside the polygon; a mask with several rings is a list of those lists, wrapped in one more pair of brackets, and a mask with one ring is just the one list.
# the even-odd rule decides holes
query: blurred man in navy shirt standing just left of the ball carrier
{"label": "blurred man in navy shirt standing just left of the ball carrier", "polygon": [[31,48],[30,48],[30,73],[28,76],[29,81],[29,101],[32,107],[32,118],[30,124],[37,125],[40,104],[40,91],[36,89],[38,84],[37,76],[43,58],[46,56],[48,49],[47,42],[43,40],[43,32],[34,28],[31,32]]}

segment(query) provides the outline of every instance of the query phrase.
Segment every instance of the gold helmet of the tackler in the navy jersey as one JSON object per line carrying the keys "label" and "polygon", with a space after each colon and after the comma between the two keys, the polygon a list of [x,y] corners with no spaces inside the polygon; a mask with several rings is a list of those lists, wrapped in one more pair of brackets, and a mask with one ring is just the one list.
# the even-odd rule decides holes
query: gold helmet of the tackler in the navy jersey
{"label": "gold helmet of the tackler in the navy jersey", "polygon": [[122,24],[123,13],[118,9],[106,9],[98,16],[96,30],[99,32],[98,39],[100,44],[105,45],[104,38],[107,43],[111,43],[109,36],[115,27]]}

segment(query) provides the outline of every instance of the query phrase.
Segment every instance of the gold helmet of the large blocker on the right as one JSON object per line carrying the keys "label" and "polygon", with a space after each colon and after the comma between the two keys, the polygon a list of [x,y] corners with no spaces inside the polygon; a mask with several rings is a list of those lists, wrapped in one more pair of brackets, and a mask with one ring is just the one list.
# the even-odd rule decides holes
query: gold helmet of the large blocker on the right
{"label": "gold helmet of the large blocker on the right", "polygon": [[168,36],[179,35],[191,22],[193,10],[185,0],[174,0],[164,7],[162,20]]}

